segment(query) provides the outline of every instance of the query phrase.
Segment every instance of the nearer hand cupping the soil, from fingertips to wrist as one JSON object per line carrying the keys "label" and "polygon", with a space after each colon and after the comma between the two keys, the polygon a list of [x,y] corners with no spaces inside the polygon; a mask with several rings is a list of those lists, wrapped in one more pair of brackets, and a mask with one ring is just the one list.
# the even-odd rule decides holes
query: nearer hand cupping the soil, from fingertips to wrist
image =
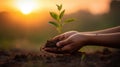
{"label": "nearer hand cupping the soil, from fingertips to wrist", "polygon": [[65,40],[58,42],[57,46],[58,47],[63,46],[61,48],[61,51],[63,52],[72,53],[78,51],[80,48],[85,46],[88,43],[88,41],[89,41],[88,35],[77,33],[69,36]]}

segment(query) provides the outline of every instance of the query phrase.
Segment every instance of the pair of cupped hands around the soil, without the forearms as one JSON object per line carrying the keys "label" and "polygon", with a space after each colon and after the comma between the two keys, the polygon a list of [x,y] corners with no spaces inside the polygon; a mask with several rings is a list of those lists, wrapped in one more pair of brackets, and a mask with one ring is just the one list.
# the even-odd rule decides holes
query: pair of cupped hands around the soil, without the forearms
{"label": "pair of cupped hands around the soil, without the forearms", "polygon": [[[89,41],[89,36],[78,32],[70,32],[59,35],[54,39],[61,39],[56,45],[62,47],[62,52],[72,53],[85,46]],[[53,48],[45,48],[45,50],[50,52],[55,51]]]}

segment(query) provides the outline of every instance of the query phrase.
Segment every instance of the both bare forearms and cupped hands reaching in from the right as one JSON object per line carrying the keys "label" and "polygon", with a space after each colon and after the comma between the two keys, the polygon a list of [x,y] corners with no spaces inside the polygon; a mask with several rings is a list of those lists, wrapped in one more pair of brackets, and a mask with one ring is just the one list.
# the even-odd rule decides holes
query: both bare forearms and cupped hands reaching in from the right
{"label": "both bare forearms and cupped hands reaching in from the right", "polygon": [[[86,45],[97,45],[120,48],[120,26],[93,32],[69,31],[58,35],[53,40],[59,39],[56,45],[62,51],[74,52]],[[54,51],[52,48],[45,48],[47,51]]]}

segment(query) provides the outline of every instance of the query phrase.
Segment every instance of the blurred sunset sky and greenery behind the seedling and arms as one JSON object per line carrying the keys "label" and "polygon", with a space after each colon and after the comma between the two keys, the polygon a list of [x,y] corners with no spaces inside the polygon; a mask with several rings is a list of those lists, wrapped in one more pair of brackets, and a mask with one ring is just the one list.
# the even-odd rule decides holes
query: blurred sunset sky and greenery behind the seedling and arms
{"label": "blurred sunset sky and greenery behind the seedling and arms", "polygon": [[48,24],[53,20],[49,11],[56,11],[56,4],[63,4],[66,9],[63,19],[76,19],[66,24],[63,32],[95,31],[120,25],[120,0],[0,0],[0,49],[38,51],[47,40],[58,35]]}

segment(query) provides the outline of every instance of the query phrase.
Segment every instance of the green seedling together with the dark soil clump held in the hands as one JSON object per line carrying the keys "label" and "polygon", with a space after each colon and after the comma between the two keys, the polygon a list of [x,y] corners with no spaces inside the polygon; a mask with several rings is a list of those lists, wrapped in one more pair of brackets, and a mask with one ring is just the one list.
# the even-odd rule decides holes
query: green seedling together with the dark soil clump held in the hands
{"label": "green seedling together with the dark soil clump held in the hands", "polygon": [[[69,19],[64,19],[63,17],[65,15],[65,9],[63,9],[62,4],[60,5],[56,5],[57,6],[57,12],[50,12],[50,16],[54,19],[54,21],[49,21],[50,24],[52,24],[56,30],[58,31],[58,33],[62,33],[63,31],[63,26],[67,23],[73,22],[74,19],[73,18],[69,18]],[[66,52],[61,51],[62,47],[58,47],[56,46],[56,43],[59,42],[60,40],[48,40],[45,44],[45,47],[48,48],[53,48],[55,49],[54,51],[48,51],[48,52],[53,52],[53,53],[58,53],[58,54],[63,54]]]}

